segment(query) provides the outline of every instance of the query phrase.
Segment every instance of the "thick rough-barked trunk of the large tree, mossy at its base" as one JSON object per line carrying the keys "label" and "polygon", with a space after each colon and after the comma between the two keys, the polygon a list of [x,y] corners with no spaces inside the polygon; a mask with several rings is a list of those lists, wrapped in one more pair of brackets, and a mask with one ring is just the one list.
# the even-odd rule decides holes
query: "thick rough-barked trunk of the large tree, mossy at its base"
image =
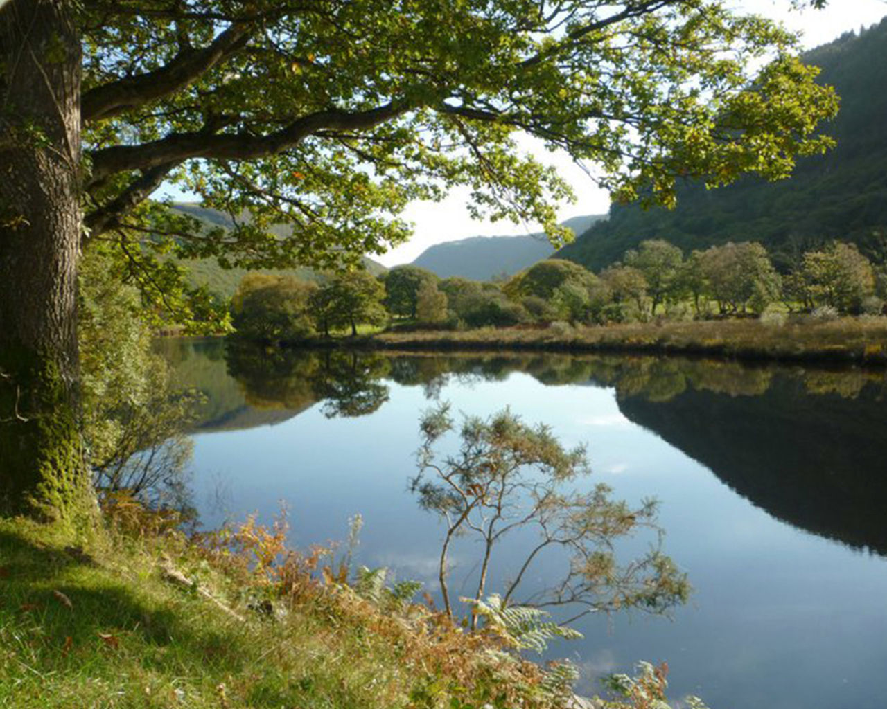
{"label": "thick rough-barked trunk of the large tree, mossy at its base", "polygon": [[0,9],[0,510],[89,505],[77,406],[80,43],[67,0]]}

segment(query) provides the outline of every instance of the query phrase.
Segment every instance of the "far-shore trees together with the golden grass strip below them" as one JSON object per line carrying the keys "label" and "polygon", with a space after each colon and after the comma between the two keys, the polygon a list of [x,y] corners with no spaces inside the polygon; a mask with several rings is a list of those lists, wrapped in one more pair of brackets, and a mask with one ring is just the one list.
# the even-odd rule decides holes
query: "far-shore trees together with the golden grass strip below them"
{"label": "far-shore trees together with the golden grass strip below them", "polygon": [[[887,364],[887,271],[833,242],[777,272],[757,243],[683,253],[641,242],[594,274],[546,259],[504,283],[416,266],[319,284],[249,275],[232,299],[239,339],[287,346],[682,354]],[[347,339],[343,336],[348,335]]]}

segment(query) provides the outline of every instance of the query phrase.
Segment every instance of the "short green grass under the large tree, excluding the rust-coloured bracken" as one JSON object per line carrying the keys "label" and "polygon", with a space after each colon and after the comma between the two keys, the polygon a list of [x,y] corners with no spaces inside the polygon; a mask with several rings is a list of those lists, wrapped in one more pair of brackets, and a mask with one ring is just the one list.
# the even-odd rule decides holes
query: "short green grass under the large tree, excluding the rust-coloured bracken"
{"label": "short green grass under the large tree, excluding the rust-coloured bracken", "polygon": [[[0,707],[406,704],[414,680],[396,649],[334,605],[239,621],[164,580],[158,554],[66,550],[47,528],[0,520]],[[208,569],[189,573],[212,585]]]}

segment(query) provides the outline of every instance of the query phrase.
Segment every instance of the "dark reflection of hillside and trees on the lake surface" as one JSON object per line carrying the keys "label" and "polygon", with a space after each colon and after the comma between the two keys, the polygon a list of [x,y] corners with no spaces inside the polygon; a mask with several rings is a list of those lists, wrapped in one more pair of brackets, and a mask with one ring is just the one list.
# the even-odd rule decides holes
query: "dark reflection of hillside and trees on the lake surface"
{"label": "dark reflection of hillside and trees on the lake surface", "polygon": [[[372,414],[389,386],[504,381],[615,389],[633,423],[705,465],[775,518],[887,555],[887,379],[881,371],[563,354],[281,351],[222,340],[162,343],[207,403],[195,432],[273,425],[312,406]],[[445,394],[444,394],[445,398]]]}

